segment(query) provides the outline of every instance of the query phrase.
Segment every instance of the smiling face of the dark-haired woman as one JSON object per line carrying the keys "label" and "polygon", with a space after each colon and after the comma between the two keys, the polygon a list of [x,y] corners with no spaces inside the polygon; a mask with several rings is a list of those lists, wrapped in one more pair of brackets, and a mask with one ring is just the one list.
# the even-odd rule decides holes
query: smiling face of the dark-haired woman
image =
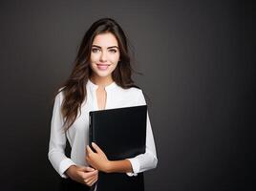
{"label": "smiling face of the dark-haired woman", "polygon": [[91,51],[90,67],[93,76],[112,79],[112,72],[117,68],[119,61],[117,38],[111,32],[97,34]]}

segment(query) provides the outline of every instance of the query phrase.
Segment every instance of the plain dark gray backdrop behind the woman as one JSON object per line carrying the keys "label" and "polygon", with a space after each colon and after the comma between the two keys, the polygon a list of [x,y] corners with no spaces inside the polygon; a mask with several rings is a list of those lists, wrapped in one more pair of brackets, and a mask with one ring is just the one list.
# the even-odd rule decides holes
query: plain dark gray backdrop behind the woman
{"label": "plain dark gray backdrop behind the woman", "polygon": [[56,187],[53,93],[105,16],[127,33],[150,97],[159,165],[146,190],[255,190],[254,12],[248,1],[1,1],[1,190]]}

